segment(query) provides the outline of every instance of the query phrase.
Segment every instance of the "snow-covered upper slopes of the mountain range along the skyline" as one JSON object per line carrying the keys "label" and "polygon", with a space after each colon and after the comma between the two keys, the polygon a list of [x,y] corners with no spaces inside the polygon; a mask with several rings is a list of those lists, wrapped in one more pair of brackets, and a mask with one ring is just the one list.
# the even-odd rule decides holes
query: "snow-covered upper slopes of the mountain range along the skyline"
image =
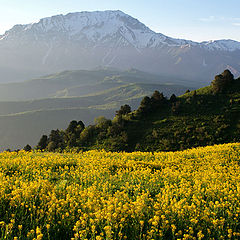
{"label": "snow-covered upper slopes of the mountain range along the skyline", "polygon": [[136,49],[177,46],[181,48],[201,47],[209,51],[240,50],[240,43],[233,40],[193,42],[174,39],[156,33],[137,19],[116,11],[75,12],[42,18],[36,23],[15,25],[7,31],[1,40],[45,42],[68,39],[71,41],[89,41],[94,44],[116,46],[131,45]]}

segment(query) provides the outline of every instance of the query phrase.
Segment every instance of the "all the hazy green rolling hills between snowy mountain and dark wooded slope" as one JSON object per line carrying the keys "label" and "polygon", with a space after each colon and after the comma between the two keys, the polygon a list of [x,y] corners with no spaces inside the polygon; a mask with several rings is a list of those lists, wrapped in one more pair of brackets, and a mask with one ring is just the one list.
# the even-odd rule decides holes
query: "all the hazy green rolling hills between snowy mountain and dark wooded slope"
{"label": "all the hazy green rolling hills between snowy mountain and dark wooded slope", "polygon": [[0,150],[36,145],[42,134],[55,127],[64,129],[73,119],[89,125],[101,115],[112,118],[125,103],[136,109],[154,90],[167,96],[187,90],[171,80],[136,69],[97,69],[0,84]]}

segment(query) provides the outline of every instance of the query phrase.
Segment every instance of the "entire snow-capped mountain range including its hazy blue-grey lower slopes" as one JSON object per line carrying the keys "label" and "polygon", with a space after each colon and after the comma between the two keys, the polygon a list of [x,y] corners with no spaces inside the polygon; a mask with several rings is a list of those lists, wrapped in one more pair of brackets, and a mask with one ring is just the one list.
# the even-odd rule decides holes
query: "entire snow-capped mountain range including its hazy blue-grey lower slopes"
{"label": "entire snow-capped mountain range including its hazy blue-grey lower slopes", "polygon": [[2,81],[97,66],[209,81],[227,67],[238,74],[239,57],[237,41],[170,38],[121,11],[57,15],[15,25],[0,36]]}

